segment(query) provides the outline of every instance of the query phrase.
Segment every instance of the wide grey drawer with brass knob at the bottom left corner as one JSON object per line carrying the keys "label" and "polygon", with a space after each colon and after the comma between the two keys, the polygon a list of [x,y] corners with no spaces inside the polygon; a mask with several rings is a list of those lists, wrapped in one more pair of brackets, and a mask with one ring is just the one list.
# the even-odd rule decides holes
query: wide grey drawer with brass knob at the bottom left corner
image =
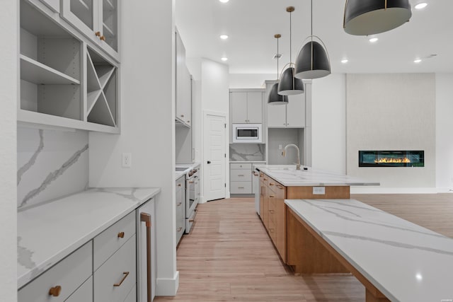
{"label": "wide grey drawer with brass knob at the bottom left corner", "polygon": [[50,301],[49,291],[56,286],[61,286],[61,291],[59,296],[52,297],[52,302],[65,301],[91,276],[92,248],[93,244],[89,241],[40,277],[25,285],[18,291],[18,302],[48,302]]}

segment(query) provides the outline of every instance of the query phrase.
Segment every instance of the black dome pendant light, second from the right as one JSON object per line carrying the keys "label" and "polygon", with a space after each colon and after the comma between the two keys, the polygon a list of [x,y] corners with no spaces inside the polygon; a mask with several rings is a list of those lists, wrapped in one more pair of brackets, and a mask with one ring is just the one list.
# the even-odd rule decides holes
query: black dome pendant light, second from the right
{"label": "black dome pendant light, second from the right", "polygon": [[[331,74],[331,62],[328,59],[326,45],[319,37],[321,43],[313,38],[313,0],[311,0],[311,35],[306,38],[309,42],[297,54],[295,74],[297,79],[318,79]],[[321,45],[322,44],[322,45]]]}

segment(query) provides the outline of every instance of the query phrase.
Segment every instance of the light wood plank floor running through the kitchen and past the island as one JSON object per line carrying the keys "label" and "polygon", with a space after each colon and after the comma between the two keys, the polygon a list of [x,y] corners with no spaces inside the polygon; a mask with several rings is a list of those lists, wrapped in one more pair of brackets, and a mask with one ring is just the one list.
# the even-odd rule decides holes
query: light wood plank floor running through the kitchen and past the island
{"label": "light wood plank floor running through the kitchen and past the island", "polygon": [[[453,194],[351,198],[453,237]],[[365,287],[350,274],[294,276],[282,264],[253,199],[222,199],[198,209],[193,231],[178,246],[178,294],[154,301],[365,301]]]}

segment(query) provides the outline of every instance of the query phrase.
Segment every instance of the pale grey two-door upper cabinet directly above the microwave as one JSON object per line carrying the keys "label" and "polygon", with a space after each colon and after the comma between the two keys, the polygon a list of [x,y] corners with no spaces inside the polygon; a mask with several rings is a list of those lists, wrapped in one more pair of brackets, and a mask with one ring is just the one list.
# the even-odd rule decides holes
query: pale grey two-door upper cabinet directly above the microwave
{"label": "pale grey two-door upper cabinet directly above the microwave", "polygon": [[231,124],[263,123],[263,89],[236,90],[230,89]]}

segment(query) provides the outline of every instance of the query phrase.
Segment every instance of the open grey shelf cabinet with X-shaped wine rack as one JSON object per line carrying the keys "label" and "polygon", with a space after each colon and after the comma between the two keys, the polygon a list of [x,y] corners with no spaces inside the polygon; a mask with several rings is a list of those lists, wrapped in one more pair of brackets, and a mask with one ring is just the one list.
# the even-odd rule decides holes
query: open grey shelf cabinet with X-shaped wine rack
{"label": "open grey shelf cabinet with X-shaped wine rack", "polygon": [[43,4],[20,5],[18,122],[119,133],[117,64]]}

